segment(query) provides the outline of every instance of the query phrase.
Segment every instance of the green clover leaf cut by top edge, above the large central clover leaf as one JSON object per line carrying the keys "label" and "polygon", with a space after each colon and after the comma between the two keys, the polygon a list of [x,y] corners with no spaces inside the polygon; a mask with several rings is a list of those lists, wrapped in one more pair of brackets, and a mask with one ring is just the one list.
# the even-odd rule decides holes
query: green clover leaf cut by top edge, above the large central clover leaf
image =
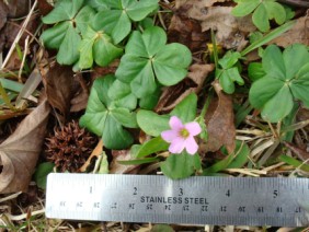
{"label": "green clover leaf cut by top edge, above the large central clover leaf", "polygon": [[100,11],[93,21],[95,30],[104,30],[118,44],[131,30],[131,21],[144,20],[158,8],[158,0],[98,0],[108,9]]}

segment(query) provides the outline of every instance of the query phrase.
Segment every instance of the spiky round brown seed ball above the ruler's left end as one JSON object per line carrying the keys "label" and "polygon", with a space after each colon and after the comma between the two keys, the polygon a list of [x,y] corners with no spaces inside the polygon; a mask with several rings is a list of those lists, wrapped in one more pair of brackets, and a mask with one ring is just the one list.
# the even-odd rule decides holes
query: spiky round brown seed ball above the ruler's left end
{"label": "spiky round brown seed ball above the ruler's left end", "polygon": [[62,129],[54,129],[55,135],[46,139],[45,154],[61,172],[78,172],[94,149],[98,138],[91,136],[77,121]]}

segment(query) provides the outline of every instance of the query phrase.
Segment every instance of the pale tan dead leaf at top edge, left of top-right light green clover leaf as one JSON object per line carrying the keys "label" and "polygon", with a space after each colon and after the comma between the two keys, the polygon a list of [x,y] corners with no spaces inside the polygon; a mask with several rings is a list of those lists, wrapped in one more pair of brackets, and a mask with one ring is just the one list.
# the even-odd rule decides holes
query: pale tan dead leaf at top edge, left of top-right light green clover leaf
{"label": "pale tan dead leaf at top edge, left of top-right light green clover leaf", "polygon": [[210,7],[213,3],[208,0],[193,0],[178,7],[187,18],[201,21],[202,32],[216,31],[218,44],[228,49],[241,50],[247,45],[247,35],[256,30],[251,15],[236,18],[231,14],[232,7]]}

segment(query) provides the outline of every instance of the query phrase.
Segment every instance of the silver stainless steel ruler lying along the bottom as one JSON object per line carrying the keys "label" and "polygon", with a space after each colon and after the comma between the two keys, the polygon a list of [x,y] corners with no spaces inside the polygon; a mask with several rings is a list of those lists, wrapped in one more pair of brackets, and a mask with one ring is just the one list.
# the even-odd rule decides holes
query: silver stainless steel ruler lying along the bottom
{"label": "silver stainless steel ruler lying along the bottom", "polygon": [[309,178],[49,174],[48,218],[185,224],[309,225]]}

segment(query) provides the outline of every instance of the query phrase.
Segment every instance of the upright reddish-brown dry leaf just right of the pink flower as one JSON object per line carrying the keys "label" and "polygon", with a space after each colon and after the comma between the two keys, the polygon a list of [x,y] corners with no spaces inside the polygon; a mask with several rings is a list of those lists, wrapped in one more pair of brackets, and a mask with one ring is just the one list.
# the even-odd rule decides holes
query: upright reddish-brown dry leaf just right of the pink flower
{"label": "upright reddish-brown dry leaf just right of the pink flower", "polygon": [[222,146],[226,146],[228,152],[231,153],[233,152],[236,146],[232,97],[231,95],[222,92],[222,89],[217,80],[214,81],[213,85],[218,95],[218,103],[215,111],[211,111],[210,108],[207,111],[206,125],[208,141],[202,146],[202,150],[205,152],[215,152]]}

